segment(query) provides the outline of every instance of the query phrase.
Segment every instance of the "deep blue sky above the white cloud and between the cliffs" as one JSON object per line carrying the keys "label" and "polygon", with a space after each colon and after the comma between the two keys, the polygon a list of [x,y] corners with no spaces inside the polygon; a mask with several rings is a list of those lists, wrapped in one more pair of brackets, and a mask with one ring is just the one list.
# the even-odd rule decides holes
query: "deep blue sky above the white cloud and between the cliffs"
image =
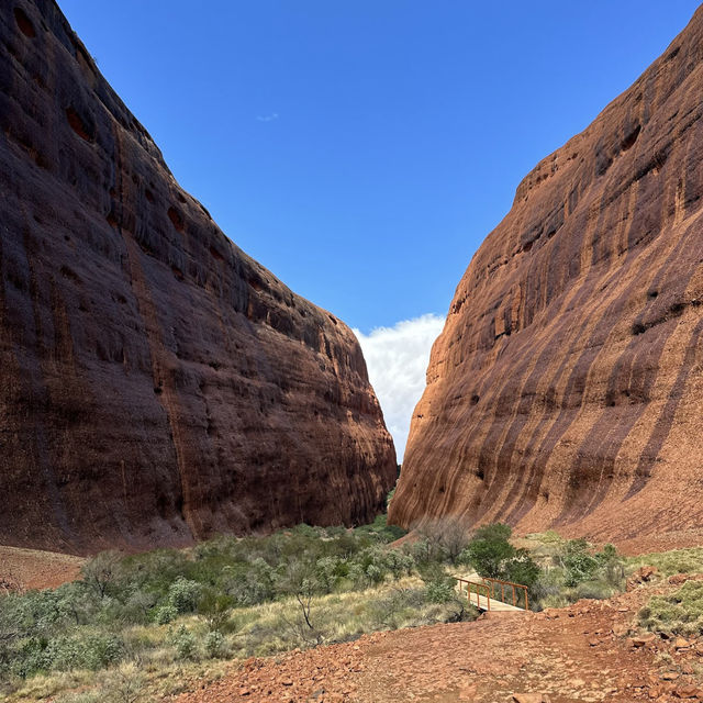
{"label": "deep blue sky above the white cloud and between the cliffs", "polygon": [[58,1],[180,183],[362,344],[427,313],[439,331],[522,177],[698,5]]}

